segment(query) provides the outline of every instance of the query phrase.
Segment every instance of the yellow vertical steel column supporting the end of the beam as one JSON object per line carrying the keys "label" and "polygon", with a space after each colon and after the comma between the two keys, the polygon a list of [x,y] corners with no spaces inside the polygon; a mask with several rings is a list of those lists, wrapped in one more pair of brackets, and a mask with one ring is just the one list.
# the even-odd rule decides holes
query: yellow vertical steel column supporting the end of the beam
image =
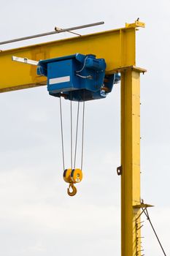
{"label": "yellow vertical steel column supporting the end of the beam", "polygon": [[[140,256],[140,72],[121,73],[121,252]],[[137,219],[137,221],[136,221]]]}

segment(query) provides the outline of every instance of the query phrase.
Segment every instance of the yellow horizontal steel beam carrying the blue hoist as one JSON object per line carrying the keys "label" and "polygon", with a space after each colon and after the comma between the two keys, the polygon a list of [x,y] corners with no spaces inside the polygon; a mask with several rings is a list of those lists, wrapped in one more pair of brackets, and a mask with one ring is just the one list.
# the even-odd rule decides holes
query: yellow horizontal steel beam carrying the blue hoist
{"label": "yellow horizontal steel beam carrying the blue hoist", "polygon": [[12,56],[39,61],[74,53],[93,53],[97,58],[105,59],[108,74],[121,67],[135,66],[136,27],[126,26],[123,29],[0,51],[0,92],[46,84],[45,77],[36,75],[35,66],[13,62]]}

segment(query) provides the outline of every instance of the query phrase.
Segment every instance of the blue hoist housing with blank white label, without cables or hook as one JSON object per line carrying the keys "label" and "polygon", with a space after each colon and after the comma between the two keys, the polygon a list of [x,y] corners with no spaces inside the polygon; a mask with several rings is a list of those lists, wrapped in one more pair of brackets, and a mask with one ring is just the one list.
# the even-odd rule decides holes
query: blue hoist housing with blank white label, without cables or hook
{"label": "blue hoist housing with blank white label, without cables or hook", "polygon": [[93,54],[76,53],[54,59],[39,61],[38,75],[47,77],[50,95],[74,101],[101,99],[112,91],[113,83],[120,80],[119,74],[105,76],[104,59]]}

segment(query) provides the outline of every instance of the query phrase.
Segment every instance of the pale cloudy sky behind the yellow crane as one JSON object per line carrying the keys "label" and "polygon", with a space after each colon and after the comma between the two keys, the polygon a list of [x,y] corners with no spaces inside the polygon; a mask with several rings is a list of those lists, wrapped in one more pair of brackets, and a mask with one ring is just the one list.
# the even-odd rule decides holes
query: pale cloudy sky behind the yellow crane
{"label": "pale cloudy sky behind the yellow crane", "polygon": [[[81,34],[146,23],[137,33],[141,79],[142,198],[169,255],[170,1],[0,1],[1,41],[104,20]],[[69,34],[1,46],[16,48]],[[9,70],[10,73],[10,70]],[[9,74],[10,75],[10,74]],[[69,108],[64,102],[65,113]],[[66,195],[59,102],[46,87],[0,94],[0,254],[120,255],[120,86],[85,110],[84,179]],[[67,116],[64,119],[66,138]],[[69,145],[69,144],[67,144]],[[69,165],[69,164],[68,164]],[[145,255],[161,255],[147,220]]]}

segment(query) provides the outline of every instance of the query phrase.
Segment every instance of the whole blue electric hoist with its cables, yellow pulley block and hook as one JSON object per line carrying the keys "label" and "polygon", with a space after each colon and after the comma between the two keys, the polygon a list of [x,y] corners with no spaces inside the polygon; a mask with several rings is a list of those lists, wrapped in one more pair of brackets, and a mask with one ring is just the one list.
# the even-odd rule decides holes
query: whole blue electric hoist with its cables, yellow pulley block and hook
{"label": "whole blue electric hoist with its cables, yellow pulley block and hook", "polygon": [[[82,181],[82,158],[83,158],[83,141],[84,141],[84,114],[85,101],[91,99],[103,99],[112,91],[115,83],[120,81],[120,73],[106,75],[107,64],[104,59],[96,59],[93,54],[82,55],[76,53],[70,56],[63,56],[54,59],[45,59],[43,61],[32,61],[26,58],[12,57],[12,60],[21,61],[26,64],[37,65],[37,75],[45,75],[47,77],[47,90],[49,94],[60,98],[70,100],[71,107],[71,167],[65,168],[64,151],[63,151],[63,123],[61,112],[61,136],[62,136],[62,154],[63,154],[63,179],[69,183],[67,193],[74,196],[77,189],[74,184]],[[77,104],[77,128],[75,138],[74,157],[73,149],[73,128],[72,128],[72,101]],[[82,105],[82,146],[81,146],[81,168],[76,168],[77,155],[77,135],[79,122],[79,106]],[[74,165],[73,165],[74,158]],[[70,191],[72,189],[72,191]]]}

